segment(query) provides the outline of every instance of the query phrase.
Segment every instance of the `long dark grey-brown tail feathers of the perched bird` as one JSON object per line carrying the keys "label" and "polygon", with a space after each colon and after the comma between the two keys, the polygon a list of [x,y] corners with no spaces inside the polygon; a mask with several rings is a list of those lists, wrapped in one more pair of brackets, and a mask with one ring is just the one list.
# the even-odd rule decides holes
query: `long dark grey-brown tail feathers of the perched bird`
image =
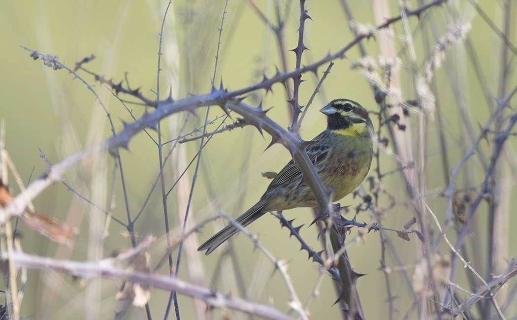
{"label": "long dark grey-brown tail feathers of the perched bird", "polygon": [[[244,212],[244,214],[240,215],[235,221],[239,223],[241,226],[247,226],[252,223],[256,219],[260,218],[267,211],[263,211],[262,209],[266,206],[267,203],[258,202],[253,207],[251,207],[248,211]],[[229,223],[225,226],[221,231],[216,233],[210,239],[206,240],[197,251],[206,250],[205,254],[208,255],[210,252],[214,251],[217,247],[221,245],[224,241],[230,239],[231,236],[239,232],[239,229],[233,224]]]}

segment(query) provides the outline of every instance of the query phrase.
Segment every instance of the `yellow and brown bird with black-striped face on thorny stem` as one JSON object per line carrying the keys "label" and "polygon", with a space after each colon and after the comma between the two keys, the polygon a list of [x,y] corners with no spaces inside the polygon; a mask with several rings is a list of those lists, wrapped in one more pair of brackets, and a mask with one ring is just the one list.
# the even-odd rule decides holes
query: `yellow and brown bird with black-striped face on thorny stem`
{"label": "yellow and brown bird with black-striped face on thorny stem", "polygon": [[[373,124],[368,112],[357,102],[334,99],[320,112],[327,116],[327,128],[306,148],[323,185],[332,191],[332,201],[342,199],[366,178],[373,157]],[[317,207],[310,187],[294,160],[273,178],[261,199],[235,221],[245,227],[267,212],[298,207]],[[206,240],[197,251],[210,254],[238,233],[230,223]]]}

